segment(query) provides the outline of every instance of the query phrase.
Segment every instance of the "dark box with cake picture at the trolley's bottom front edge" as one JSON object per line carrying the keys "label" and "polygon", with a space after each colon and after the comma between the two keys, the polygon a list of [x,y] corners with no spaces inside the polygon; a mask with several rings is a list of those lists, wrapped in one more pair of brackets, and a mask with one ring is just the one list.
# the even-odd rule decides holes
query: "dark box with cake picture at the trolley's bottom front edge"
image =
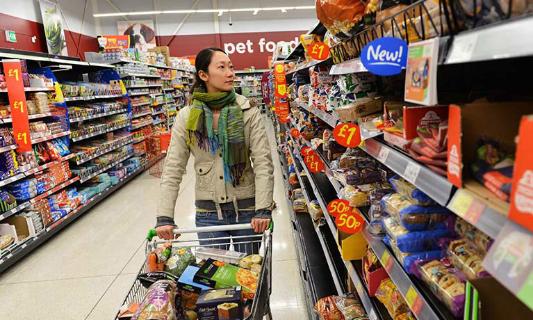
{"label": "dark box with cake picture at the trolley's bottom front edge", "polygon": [[202,291],[196,303],[199,320],[243,319],[241,288],[210,289]]}

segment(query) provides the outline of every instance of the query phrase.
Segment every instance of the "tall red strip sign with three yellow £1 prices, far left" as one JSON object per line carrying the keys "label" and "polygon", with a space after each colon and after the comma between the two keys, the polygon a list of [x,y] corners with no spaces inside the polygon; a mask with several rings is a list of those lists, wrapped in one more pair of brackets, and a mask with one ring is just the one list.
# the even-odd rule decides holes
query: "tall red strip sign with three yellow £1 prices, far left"
{"label": "tall red strip sign with three yellow \u00a31 prices, far left", "polygon": [[13,120],[13,136],[17,143],[18,152],[31,151],[30,124],[28,109],[26,108],[26,92],[22,82],[20,61],[4,60],[3,70],[6,74],[11,119]]}

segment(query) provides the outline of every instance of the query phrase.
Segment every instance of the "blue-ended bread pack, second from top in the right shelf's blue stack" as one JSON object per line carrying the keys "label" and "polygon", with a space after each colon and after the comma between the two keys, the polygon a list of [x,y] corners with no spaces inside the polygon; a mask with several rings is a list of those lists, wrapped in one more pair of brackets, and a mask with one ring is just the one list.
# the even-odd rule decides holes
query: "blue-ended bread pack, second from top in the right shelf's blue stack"
{"label": "blue-ended bread pack, second from top in the right shelf's blue stack", "polygon": [[400,221],[405,229],[411,231],[444,228],[450,217],[450,211],[445,207],[415,205],[409,198],[400,193],[385,195],[380,201],[380,205],[396,221]]}

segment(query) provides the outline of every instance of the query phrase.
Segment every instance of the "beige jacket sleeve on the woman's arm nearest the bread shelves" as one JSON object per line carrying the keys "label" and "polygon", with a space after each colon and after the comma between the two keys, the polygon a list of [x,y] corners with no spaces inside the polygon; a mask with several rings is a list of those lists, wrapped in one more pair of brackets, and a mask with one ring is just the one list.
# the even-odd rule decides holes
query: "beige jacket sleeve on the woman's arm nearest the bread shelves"
{"label": "beige jacket sleeve on the woman's arm nearest the bread shelves", "polygon": [[252,108],[250,118],[250,157],[254,163],[255,186],[256,186],[256,211],[272,209],[272,197],[274,193],[274,165],[272,154],[266,136],[265,125],[261,112]]}

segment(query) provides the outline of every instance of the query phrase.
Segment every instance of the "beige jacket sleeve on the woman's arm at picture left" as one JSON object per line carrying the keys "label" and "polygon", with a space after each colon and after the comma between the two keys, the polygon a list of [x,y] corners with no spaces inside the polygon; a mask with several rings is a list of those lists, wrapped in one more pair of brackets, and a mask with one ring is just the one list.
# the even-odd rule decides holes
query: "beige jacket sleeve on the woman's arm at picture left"
{"label": "beige jacket sleeve on the woman's arm at picture left", "polygon": [[172,221],[174,221],[174,206],[179,194],[179,184],[181,184],[190,156],[185,130],[188,114],[186,110],[186,108],[181,109],[174,119],[167,159],[165,159],[163,175],[161,175],[157,216],[171,218]]}

